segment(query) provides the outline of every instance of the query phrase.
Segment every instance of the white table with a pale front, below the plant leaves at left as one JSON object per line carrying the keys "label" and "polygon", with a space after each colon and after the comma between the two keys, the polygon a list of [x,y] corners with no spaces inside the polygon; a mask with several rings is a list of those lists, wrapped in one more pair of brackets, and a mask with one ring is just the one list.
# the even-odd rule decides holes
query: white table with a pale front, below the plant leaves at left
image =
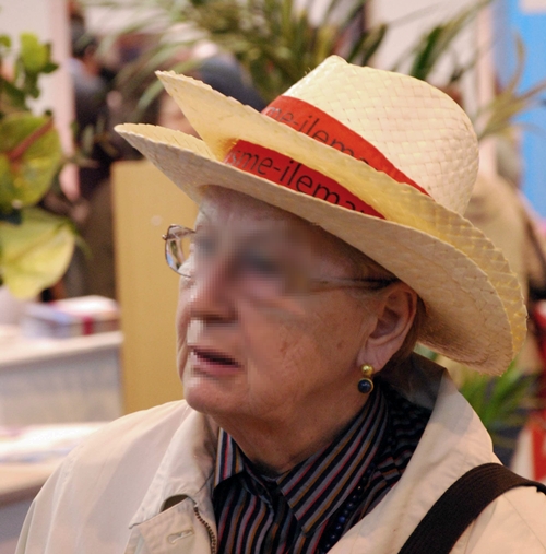
{"label": "white table with a pale front, below the plant leaves at left", "polygon": [[0,425],[121,415],[120,331],[70,339],[7,334],[0,333]]}

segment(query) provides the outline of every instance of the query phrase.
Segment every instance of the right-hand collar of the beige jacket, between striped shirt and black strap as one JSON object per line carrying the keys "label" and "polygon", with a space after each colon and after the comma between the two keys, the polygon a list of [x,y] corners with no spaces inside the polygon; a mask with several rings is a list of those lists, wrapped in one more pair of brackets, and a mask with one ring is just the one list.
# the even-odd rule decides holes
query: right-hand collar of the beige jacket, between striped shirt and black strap
{"label": "right-hand collar of the beige jacket, between striped shirt and black strap", "polygon": [[[430,392],[439,388],[432,414],[412,460],[396,486],[344,535],[332,554],[368,550],[399,552],[451,484],[476,465],[498,461],[479,417],[446,370],[420,358],[414,363],[406,382],[401,380],[397,385],[406,389],[406,397],[412,397],[412,391],[423,394],[426,390],[417,385],[422,379],[427,380]],[[347,549],[347,544],[352,546]]]}

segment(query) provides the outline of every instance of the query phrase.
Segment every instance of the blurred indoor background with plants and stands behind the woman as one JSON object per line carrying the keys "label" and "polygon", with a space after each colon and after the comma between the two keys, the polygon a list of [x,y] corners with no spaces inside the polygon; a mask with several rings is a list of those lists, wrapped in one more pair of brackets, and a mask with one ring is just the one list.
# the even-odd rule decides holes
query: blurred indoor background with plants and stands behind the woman
{"label": "blurred indoor background with plants and stands behind the woman", "polygon": [[112,132],[194,133],[156,70],[261,110],[337,54],[467,111],[480,170],[465,215],[519,275],[529,337],[500,378],[439,362],[502,461],[545,479],[545,51],[546,0],[0,0],[0,554],[78,441],[183,397],[161,237],[195,207]]}

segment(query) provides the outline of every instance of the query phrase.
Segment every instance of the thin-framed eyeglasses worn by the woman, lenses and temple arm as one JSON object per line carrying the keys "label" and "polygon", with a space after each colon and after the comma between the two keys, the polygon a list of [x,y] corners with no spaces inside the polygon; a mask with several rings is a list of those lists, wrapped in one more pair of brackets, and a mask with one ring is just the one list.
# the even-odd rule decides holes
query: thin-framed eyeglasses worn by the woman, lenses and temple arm
{"label": "thin-framed eyeglasses worn by the woman, lenses and temple arm", "polygon": [[269,234],[244,241],[227,257],[223,239],[210,232],[170,225],[163,235],[165,258],[170,269],[188,281],[188,286],[206,279],[221,260],[228,278],[247,296],[271,298],[284,294],[309,294],[335,288],[377,291],[399,281],[392,279],[343,279],[311,276],[301,266],[301,251],[286,236]]}

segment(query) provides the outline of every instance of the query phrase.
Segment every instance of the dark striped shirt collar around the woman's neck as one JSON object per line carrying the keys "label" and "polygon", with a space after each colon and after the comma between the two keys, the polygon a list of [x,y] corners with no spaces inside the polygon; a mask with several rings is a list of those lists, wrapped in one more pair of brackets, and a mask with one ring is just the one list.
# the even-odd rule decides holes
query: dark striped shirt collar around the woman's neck
{"label": "dark striped shirt collar around the woman's neck", "polygon": [[363,410],[332,444],[275,479],[261,475],[233,437],[221,429],[214,487],[239,473],[246,473],[257,491],[276,486],[302,533],[312,533],[371,473],[385,434],[387,410],[381,388],[376,387]]}

